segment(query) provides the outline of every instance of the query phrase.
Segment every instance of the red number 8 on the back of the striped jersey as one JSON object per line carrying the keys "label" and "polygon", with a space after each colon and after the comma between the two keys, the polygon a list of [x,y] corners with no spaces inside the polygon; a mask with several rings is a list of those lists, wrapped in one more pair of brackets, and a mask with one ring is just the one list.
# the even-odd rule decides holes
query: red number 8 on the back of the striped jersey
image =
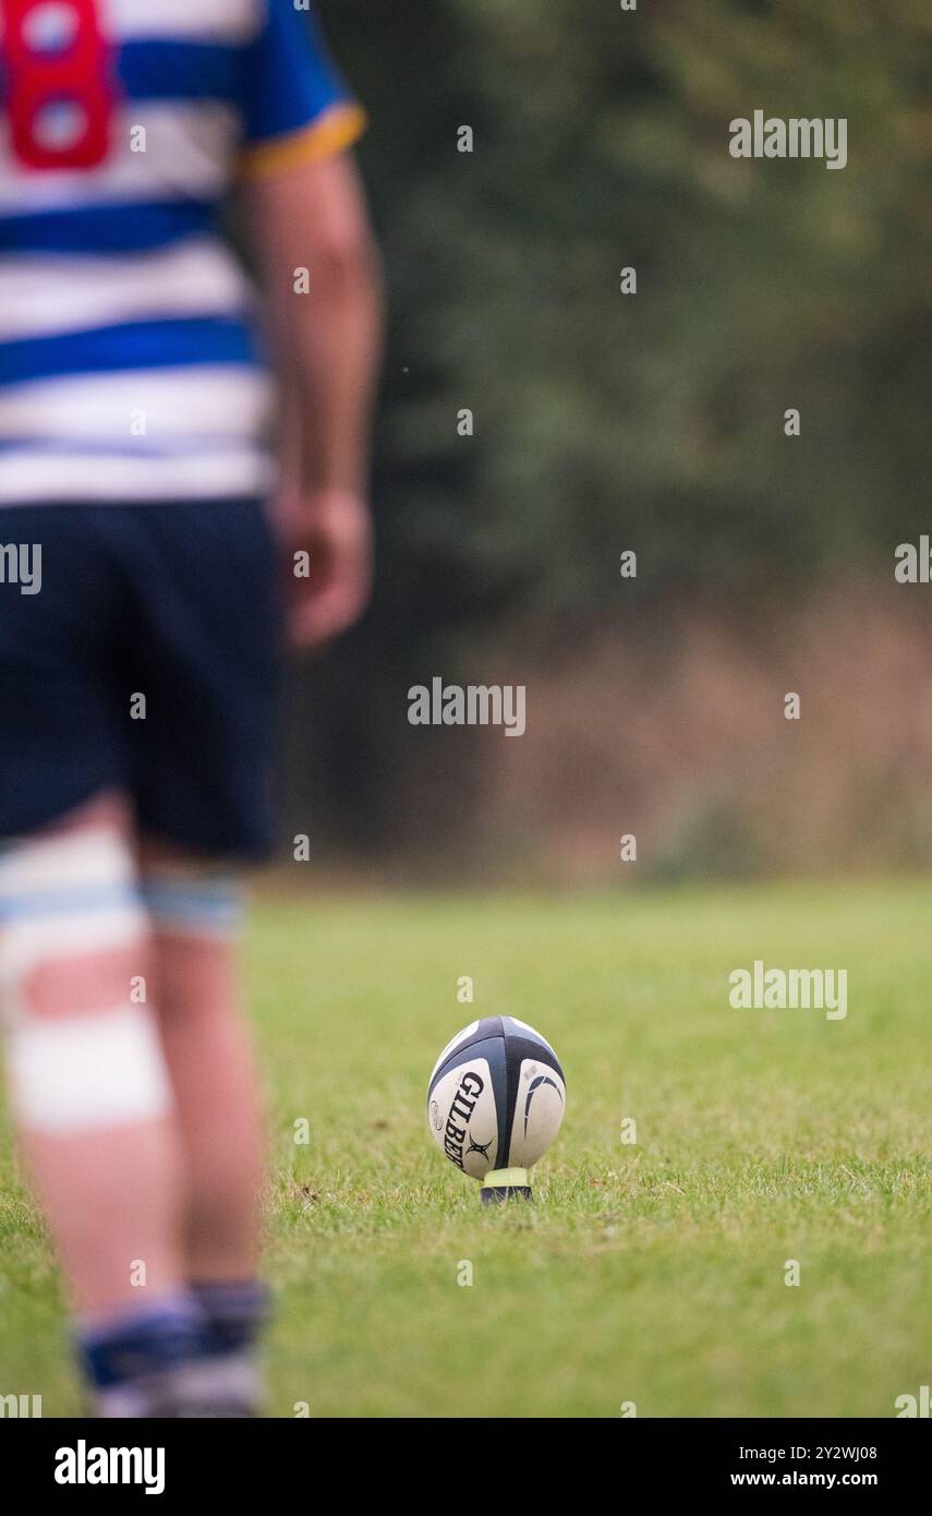
{"label": "red number 8 on the back of the striped jersey", "polygon": [[3,11],[15,156],[27,168],[95,168],[114,108],[97,0],[5,0]]}

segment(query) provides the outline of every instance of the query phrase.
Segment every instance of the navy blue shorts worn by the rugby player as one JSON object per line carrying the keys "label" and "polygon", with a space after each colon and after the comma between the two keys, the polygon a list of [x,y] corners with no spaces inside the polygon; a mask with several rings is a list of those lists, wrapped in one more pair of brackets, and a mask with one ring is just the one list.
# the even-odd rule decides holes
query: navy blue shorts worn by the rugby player
{"label": "navy blue shorts worn by the rugby player", "polygon": [[259,502],[0,509],[0,837],[121,790],[147,834],[262,857],[276,585]]}

